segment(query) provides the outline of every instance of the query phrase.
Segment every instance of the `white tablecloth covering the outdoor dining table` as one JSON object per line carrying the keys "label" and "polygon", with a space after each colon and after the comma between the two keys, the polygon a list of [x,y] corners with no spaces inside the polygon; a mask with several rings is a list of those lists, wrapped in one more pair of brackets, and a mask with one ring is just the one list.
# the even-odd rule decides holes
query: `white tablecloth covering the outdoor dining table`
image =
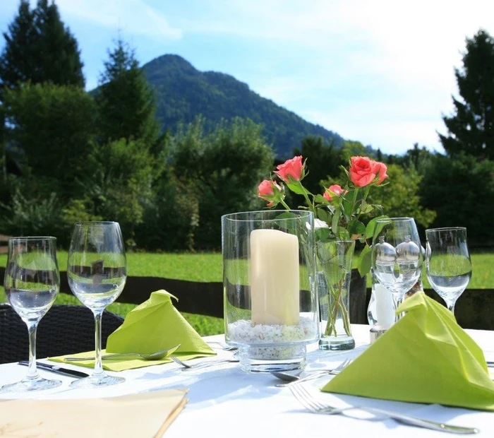
{"label": "white tablecloth covering the outdoor dining table", "polygon": [[[311,345],[308,368],[337,365],[345,357],[356,357],[367,348],[368,326],[352,325],[356,348],[344,353],[323,352]],[[487,360],[494,360],[494,331],[469,330],[468,333],[486,353]],[[223,336],[210,336],[207,341],[223,341]],[[217,350],[219,351],[219,350]],[[219,356],[232,355],[219,351]],[[204,360],[204,359],[198,359]],[[382,360],[386,360],[385,357]],[[74,369],[88,370],[83,367]],[[26,367],[16,364],[0,365],[0,385],[22,379]],[[376,369],[375,372],[379,372]],[[373,418],[362,411],[351,410],[345,415],[315,415],[308,413],[296,401],[288,388],[275,386],[279,380],[271,374],[249,374],[241,371],[237,363],[216,367],[181,371],[178,365],[155,365],[131,369],[118,374],[126,378],[123,384],[92,390],[70,389],[71,378],[40,370],[47,378],[63,381],[52,391],[30,393],[26,398],[85,398],[119,396],[156,389],[188,388],[189,402],[169,427],[166,437],[445,437],[450,434],[433,432],[400,425],[394,420]],[[421,416],[430,420],[451,422],[455,425],[478,427],[477,437],[494,437],[494,413],[438,405],[420,405],[379,401],[370,398],[321,393],[318,388],[331,377],[306,382],[308,389],[332,406],[359,404],[374,406],[402,413]],[[12,396],[10,396],[12,397]],[[9,398],[0,394],[0,398]],[[20,397],[19,397],[20,398]],[[28,413],[26,414],[28,415]],[[1,420],[1,409],[0,409]],[[5,420],[5,419],[4,419]],[[138,421],[138,413],[136,413]],[[451,435],[450,435],[451,436]]]}

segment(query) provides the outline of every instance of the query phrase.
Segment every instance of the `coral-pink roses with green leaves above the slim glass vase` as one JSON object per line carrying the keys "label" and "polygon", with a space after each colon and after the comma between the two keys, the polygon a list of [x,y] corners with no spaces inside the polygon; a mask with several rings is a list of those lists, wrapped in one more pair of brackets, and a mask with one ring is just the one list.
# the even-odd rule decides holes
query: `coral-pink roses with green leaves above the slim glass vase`
{"label": "coral-pink roses with green leaves above the slim glass vase", "polygon": [[387,167],[384,163],[370,160],[368,157],[354,156],[350,158],[349,169],[342,167],[347,177],[344,187],[333,184],[327,187],[322,194],[312,194],[302,181],[307,174],[306,161],[296,156],[277,166],[273,172],[274,178],[265,179],[259,184],[258,196],[268,201],[267,207],[275,208],[281,204],[289,210],[285,203],[285,187],[294,194],[302,195],[306,206],[316,218],[316,240],[325,242],[335,239],[358,240],[365,244],[359,257],[358,269],[361,276],[370,271],[370,246],[368,239],[372,239],[375,221],[382,215],[373,218],[364,225],[363,217],[375,210],[382,210],[381,206],[367,202],[371,187],[379,186],[387,179]]}

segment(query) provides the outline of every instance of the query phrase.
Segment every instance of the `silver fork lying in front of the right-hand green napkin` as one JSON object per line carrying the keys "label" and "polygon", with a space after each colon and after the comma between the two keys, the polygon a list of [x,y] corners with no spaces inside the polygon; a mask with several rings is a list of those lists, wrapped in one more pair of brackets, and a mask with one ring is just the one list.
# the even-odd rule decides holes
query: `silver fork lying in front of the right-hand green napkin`
{"label": "silver fork lying in front of the right-hand green napkin", "polygon": [[447,424],[445,422],[435,422],[431,420],[425,420],[423,418],[413,417],[411,415],[404,415],[390,410],[383,410],[379,408],[363,408],[361,406],[348,406],[347,408],[333,408],[332,406],[318,401],[314,396],[307,391],[303,385],[290,386],[291,393],[295,398],[308,410],[316,414],[334,415],[343,413],[345,410],[360,409],[374,415],[385,415],[392,418],[397,422],[401,422],[404,425],[424,427],[430,430],[438,430],[440,432],[450,432],[454,434],[476,434],[479,432],[475,427],[462,427]]}

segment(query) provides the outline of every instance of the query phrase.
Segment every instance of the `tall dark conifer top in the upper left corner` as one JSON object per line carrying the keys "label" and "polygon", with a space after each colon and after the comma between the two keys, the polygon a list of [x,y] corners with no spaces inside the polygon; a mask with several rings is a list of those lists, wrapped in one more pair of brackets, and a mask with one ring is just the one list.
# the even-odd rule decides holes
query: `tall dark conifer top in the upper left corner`
{"label": "tall dark conifer top in the upper left corner", "polygon": [[76,39],[62,23],[58,7],[38,0],[34,10],[21,0],[18,15],[4,32],[0,85],[49,82],[84,88],[83,63]]}

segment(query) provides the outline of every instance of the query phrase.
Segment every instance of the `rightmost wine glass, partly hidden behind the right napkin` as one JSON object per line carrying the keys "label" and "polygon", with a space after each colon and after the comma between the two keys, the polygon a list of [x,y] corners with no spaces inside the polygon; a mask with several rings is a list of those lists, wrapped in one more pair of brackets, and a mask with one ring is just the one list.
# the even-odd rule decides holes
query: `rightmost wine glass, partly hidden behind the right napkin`
{"label": "rightmost wine glass, partly hidden behind the right napkin", "polygon": [[454,304],[471,277],[466,228],[430,228],[426,230],[426,239],[427,279],[454,314]]}

